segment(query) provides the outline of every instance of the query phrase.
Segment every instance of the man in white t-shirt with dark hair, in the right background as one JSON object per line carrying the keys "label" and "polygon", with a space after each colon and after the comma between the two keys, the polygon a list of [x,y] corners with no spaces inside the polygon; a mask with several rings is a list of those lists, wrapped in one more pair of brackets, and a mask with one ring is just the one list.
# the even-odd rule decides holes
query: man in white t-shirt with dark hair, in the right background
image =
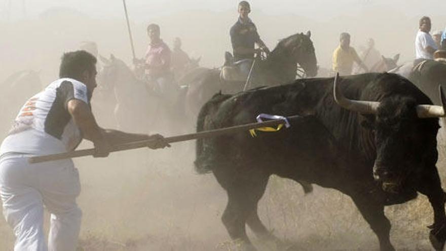
{"label": "man in white t-shirt with dark hair, in the right background", "polygon": [[438,49],[435,41],[429,34],[431,30],[431,21],[429,17],[420,19],[420,30],[415,38],[416,59],[433,59],[434,52]]}

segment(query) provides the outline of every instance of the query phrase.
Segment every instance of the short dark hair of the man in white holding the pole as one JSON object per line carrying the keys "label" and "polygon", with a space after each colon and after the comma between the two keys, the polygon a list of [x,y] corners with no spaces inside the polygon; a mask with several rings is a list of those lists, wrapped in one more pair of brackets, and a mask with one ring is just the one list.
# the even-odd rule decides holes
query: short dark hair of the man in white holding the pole
{"label": "short dark hair of the man in white holding the pole", "polygon": [[95,64],[96,58],[86,51],[66,52],[60,63],[59,77],[80,80],[84,71],[91,72]]}

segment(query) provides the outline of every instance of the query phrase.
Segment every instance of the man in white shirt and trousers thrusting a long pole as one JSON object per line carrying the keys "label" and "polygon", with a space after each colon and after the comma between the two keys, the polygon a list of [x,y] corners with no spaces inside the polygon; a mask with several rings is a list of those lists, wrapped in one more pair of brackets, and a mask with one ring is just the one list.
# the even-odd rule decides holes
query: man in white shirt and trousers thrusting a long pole
{"label": "man in white shirt and trousers thrusting a long pole", "polygon": [[[0,147],[0,196],[3,214],[16,236],[15,251],[75,251],[81,226],[78,170],[70,159],[29,164],[35,155],[75,150],[83,138],[93,141],[95,157],[113,145],[154,139],[150,148],[168,146],[161,135],[102,129],[90,99],[96,87],[96,58],[86,51],[65,53],[60,79],[22,106]],[[51,213],[48,244],[44,206]],[[11,248],[7,248],[11,249]]]}

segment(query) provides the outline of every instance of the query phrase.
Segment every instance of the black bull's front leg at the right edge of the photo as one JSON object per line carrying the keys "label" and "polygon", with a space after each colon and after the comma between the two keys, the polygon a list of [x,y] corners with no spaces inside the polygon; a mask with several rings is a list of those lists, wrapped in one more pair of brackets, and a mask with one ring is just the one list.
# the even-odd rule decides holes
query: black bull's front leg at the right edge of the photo
{"label": "black bull's front leg at the right edge of the photo", "polygon": [[443,250],[446,241],[446,214],[444,212],[444,202],[446,194],[441,188],[440,177],[437,168],[425,171],[420,180],[418,191],[426,195],[434,211],[434,223],[429,226],[429,240],[435,250]]}

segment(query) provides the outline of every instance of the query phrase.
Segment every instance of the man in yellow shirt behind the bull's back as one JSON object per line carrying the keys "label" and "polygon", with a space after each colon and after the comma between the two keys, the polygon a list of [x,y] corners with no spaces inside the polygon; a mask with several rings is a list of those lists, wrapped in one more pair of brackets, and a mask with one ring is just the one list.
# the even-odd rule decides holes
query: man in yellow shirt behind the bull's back
{"label": "man in yellow shirt behind the bull's back", "polygon": [[333,52],[333,71],[340,75],[351,75],[353,62],[356,62],[361,68],[368,72],[367,66],[359,58],[356,50],[350,47],[350,34],[341,33],[340,45]]}

